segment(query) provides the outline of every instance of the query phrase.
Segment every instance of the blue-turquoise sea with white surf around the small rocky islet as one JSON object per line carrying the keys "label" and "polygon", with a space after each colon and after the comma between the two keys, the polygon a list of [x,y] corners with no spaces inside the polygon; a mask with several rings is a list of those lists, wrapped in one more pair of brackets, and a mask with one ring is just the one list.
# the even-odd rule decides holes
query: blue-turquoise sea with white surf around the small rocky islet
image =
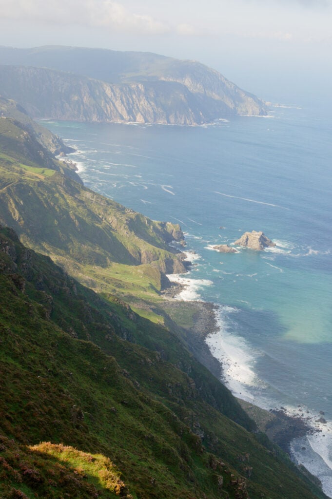
{"label": "blue-turquoise sea with white surf around the small rocky islet", "polygon": [[[232,392],[302,416],[294,440],[332,497],[332,117],[272,106],[196,127],[42,121],[77,151],[84,184],[153,220],[179,223],[190,272],[178,298],[218,305],[207,336]],[[274,248],[234,246],[263,231]]]}

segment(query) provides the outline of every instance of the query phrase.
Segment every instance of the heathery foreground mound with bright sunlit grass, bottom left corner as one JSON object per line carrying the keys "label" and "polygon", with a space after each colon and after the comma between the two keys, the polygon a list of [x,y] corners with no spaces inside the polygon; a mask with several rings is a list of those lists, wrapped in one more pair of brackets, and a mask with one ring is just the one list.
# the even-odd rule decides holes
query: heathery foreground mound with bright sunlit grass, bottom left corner
{"label": "heathery foreground mound with bright sunlit grass, bottom left corner", "polygon": [[0,469],[1,497],[133,498],[108,458],[62,444],[24,446],[0,435]]}

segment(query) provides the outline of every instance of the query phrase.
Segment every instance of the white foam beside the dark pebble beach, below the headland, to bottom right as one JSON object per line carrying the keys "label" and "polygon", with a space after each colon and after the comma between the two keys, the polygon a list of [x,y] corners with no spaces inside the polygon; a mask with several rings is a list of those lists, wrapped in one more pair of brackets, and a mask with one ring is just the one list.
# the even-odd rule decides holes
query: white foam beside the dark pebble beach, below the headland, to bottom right
{"label": "white foam beside the dark pebble beach, below the headland, to bottom right", "polygon": [[[223,381],[233,395],[263,409],[278,409],[280,403],[269,397],[268,385],[255,374],[255,362],[261,353],[232,332],[231,316],[236,312],[236,308],[220,306],[216,312],[218,330],[210,333],[205,341],[211,354],[222,363]],[[302,417],[314,431],[291,442],[293,459],[317,476],[325,494],[332,498],[332,423],[321,419],[321,414],[305,405],[294,407],[284,404],[284,407],[287,415]]]}

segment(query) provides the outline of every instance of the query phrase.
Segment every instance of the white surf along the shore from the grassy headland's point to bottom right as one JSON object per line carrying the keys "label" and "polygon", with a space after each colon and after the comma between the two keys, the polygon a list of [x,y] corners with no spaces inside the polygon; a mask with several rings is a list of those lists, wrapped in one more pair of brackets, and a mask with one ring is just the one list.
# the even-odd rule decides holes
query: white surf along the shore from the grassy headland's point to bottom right
{"label": "white surf along the shore from the grassy headland's point to bottom right", "polygon": [[[195,260],[200,259],[200,255],[190,251],[186,251],[186,254],[188,260],[190,256],[194,256]],[[191,273],[167,275],[172,283],[179,285],[173,299],[208,304],[202,300],[199,291],[213,282],[188,277]],[[254,371],[255,362],[261,353],[251,347],[245,338],[228,331],[229,316],[236,315],[238,308],[219,303],[211,305],[210,313],[214,315],[215,328],[205,334],[204,341],[212,357],[220,364],[220,380],[240,399],[240,403],[244,402],[244,408],[256,406],[276,417],[278,422],[274,425],[270,423],[271,429],[267,432],[269,437],[288,452],[298,466],[304,466],[315,476],[321,482],[323,492],[332,497],[332,478],[329,476],[332,457],[328,450],[329,444],[332,445],[332,423],[325,420],[323,411],[309,410],[304,404],[298,407],[283,405],[282,402],[265,397],[262,391],[267,385]],[[247,412],[250,414],[250,411]],[[263,431],[266,432],[266,429]]]}

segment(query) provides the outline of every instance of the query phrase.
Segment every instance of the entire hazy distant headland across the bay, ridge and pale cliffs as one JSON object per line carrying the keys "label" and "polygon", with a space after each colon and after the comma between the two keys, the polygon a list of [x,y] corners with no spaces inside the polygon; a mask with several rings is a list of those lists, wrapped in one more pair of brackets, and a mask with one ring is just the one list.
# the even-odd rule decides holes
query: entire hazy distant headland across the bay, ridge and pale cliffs
{"label": "entire hazy distant headland across the bay, ridge and pale cliffs", "polygon": [[266,105],[197,61],[78,47],[0,47],[0,93],[35,118],[199,125]]}

